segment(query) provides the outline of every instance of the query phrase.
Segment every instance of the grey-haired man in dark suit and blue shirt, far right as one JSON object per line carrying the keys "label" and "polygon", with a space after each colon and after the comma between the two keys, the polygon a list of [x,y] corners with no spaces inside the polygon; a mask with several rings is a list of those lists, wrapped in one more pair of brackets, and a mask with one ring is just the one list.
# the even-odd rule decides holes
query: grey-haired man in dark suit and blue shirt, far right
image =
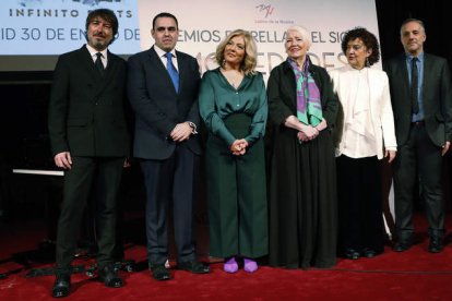
{"label": "grey-haired man in dark suit and blue shirt, far right", "polygon": [[401,41],[405,53],[384,67],[399,145],[393,165],[396,252],[406,251],[414,243],[413,193],[417,174],[429,221],[428,250],[438,253],[443,249],[441,166],[452,141],[452,86],[448,61],[424,52],[425,40],[420,20],[404,21]]}

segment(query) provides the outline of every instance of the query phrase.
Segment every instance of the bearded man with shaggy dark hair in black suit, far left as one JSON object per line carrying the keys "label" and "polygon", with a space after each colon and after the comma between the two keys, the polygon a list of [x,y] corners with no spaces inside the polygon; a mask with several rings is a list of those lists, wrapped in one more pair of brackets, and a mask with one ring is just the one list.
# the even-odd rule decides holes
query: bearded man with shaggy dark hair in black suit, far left
{"label": "bearded man with shaggy dark hair in black suit, far left", "polygon": [[110,51],[118,20],[99,9],[86,17],[87,44],[59,57],[53,73],[48,128],[64,189],[57,234],[52,296],[70,292],[71,261],[87,200],[96,189],[97,265],[107,287],[121,287],[114,268],[116,215],[122,168],[129,155],[126,61]]}

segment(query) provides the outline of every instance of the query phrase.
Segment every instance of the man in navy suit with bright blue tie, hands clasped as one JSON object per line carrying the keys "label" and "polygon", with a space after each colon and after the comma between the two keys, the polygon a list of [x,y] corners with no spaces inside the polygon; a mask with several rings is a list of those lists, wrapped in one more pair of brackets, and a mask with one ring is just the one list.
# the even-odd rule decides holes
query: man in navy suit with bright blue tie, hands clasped
{"label": "man in navy suit with bright blue tie, hands clasped", "polygon": [[178,22],[170,13],[153,20],[154,46],[129,58],[128,95],[135,112],[133,155],[140,159],[146,189],[147,258],[157,280],[170,279],[167,217],[173,201],[178,268],[209,273],[197,261],[193,206],[201,146],[197,60],[176,51]]}

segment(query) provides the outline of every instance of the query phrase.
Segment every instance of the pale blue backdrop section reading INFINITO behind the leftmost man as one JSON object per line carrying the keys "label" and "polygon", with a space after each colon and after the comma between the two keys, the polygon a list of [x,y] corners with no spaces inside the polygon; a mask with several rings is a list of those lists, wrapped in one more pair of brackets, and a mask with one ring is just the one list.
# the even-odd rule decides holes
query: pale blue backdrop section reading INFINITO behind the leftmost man
{"label": "pale blue backdrop section reading INFINITO behind the leftmost man", "polygon": [[107,8],[119,21],[115,53],[140,50],[136,0],[1,0],[0,55],[61,55],[80,48],[90,11]]}

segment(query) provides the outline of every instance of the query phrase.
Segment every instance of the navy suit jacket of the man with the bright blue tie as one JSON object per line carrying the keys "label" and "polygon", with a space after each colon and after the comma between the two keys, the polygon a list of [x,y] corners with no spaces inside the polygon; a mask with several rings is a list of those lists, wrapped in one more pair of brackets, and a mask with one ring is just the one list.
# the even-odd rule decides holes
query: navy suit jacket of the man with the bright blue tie
{"label": "navy suit jacket of the man with the bright blue tie", "polygon": [[[128,60],[128,95],[135,112],[133,155],[143,159],[167,159],[176,149],[169,137],[177,123],[191,121],[199,125],[198,92],[200,72],[197,60],[176,51],[179,69],[179,93],[152,47]],[[181,142],[201,154],[198,135]]]}

